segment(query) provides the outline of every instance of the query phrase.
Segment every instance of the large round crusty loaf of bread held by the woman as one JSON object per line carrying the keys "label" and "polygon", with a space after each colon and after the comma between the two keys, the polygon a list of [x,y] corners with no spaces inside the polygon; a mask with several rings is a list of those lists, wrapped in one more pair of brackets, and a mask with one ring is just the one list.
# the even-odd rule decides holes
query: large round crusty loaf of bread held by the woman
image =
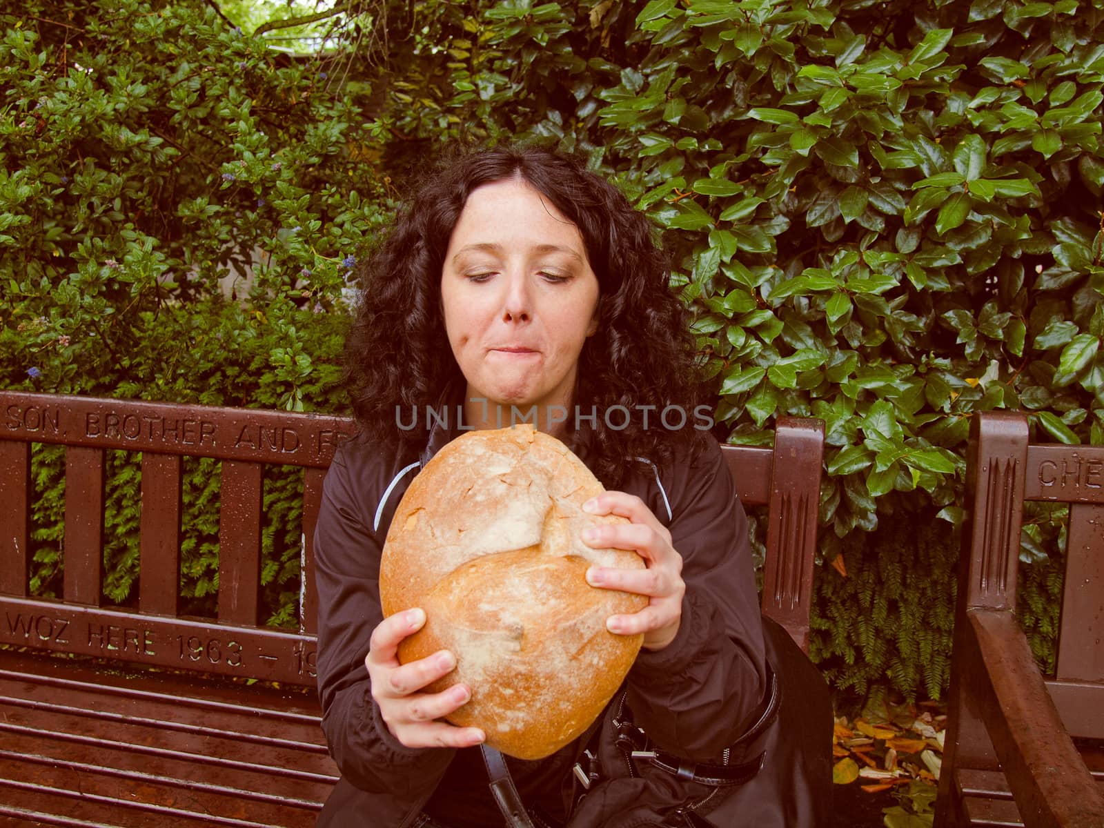
{"label": "large round crusty loaf of bread held by the woman", "polygon": [[403,664],[450,650],[471,699],[448,721],[481,728],[505,754],[548,756],[586,730],[633,666],[643,636],[606,629],[643,595],[586,583],[592,565],[644,569],[634,551],[593,549],[585,528],[628,523],[582,510],[604,491],[555,437],[531,425],[468,432],[426,464],[391,521],[380,561],[385,616],[425,609]]}

